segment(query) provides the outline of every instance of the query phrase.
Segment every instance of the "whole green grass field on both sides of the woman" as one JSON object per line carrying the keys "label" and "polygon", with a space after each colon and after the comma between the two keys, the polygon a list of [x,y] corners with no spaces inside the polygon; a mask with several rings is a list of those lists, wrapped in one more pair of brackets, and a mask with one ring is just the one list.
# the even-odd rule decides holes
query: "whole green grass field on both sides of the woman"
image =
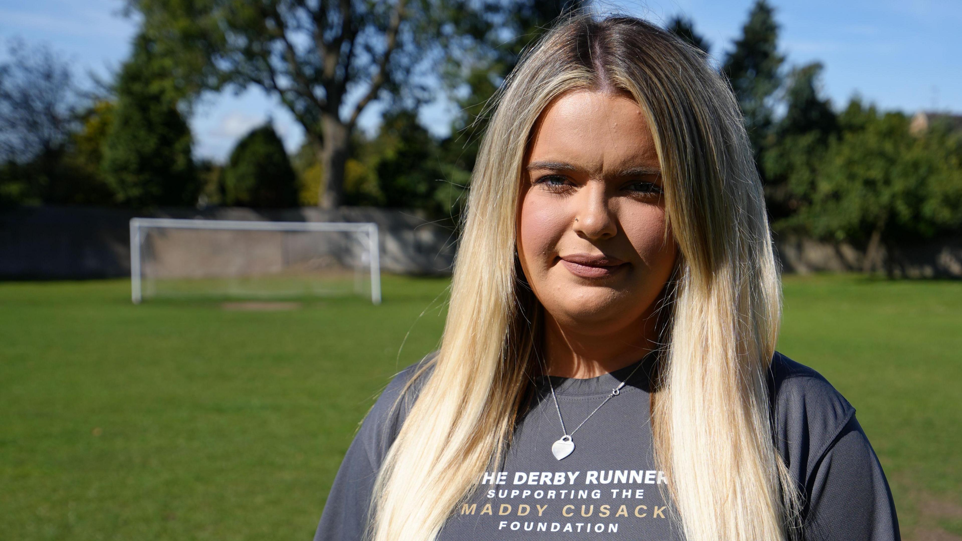
{"label": "whole green grass field on both sides of the woman", "polygon": [[[125,280],[0,284],[0,537],[309,539],[372,399],[437,344],[446,285],[133,306]],[[858,409],[904,538],[959,539],[962,283],[787,277],[785,304],[779,349]]]}

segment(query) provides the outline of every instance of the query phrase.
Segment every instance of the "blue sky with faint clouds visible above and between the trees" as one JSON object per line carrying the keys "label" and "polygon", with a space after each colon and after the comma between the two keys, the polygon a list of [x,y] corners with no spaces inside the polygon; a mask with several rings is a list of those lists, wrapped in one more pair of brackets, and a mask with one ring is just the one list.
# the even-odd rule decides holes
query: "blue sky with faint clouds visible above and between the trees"
{"label": "blue sky with faint clouds visible above and between the trees", "polygon": [[[820,61],[823,90],[836,107],[858,93],[882,109],[962,112],[962,1],[770,0],[781,25],[780,47],[789,64]],[[721,58],[745,22],[752,0],[607,0],[601,9],[656,22],[674,13],[695,20],[696,30]],[[136,20],[122,0],[0,0],[0,40],[46,43],[74,65],[80,78],[107,76],[129,52]],[[953,38],[954,36],[954,38]],[[4,47],[5,49],[5,47]],[[0,53],[2,55],[3,53]],[[421,112],[436,134],[447,130],[451,107],[443,99]],[[271,117],[289,149],[303,132],[276,99],[261,90],[205,96],[191,118],[194,152],[223,160],[248,130]],[[362,118],[376,126],[377,111]]]}

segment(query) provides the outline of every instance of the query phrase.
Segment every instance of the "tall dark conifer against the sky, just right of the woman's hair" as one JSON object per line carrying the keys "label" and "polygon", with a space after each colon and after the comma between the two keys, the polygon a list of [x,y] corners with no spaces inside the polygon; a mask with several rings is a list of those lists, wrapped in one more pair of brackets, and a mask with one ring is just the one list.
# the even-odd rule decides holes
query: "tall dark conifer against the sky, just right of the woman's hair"
{"label": "tall dark conifer against the sky, just right of the woman's hair", "polygon": [[784,57],[777,50],[778,24],[766,0],[756,0],[742,37],[725,56],[722,72],[738,97],[756,160],[772,129],[772,94],[781,86]]}

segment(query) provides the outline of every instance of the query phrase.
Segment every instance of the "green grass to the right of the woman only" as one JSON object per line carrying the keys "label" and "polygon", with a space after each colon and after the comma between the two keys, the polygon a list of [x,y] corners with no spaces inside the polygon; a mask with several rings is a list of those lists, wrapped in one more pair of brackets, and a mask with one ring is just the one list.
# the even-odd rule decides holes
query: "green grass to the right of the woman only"
{"label": "green grass to the right of the woman only", "polygon": [[778,349],[855,406],[905,538],[962,534],[962,282],[791,276],[784,294]]}

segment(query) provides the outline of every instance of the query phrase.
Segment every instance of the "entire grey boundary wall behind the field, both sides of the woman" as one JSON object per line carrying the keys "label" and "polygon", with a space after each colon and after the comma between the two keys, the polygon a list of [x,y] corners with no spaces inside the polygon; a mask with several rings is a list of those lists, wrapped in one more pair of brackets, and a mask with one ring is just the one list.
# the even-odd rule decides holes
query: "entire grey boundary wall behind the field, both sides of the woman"
{"label": "entire grey boundary wall behind the field, both sides of the woman", "polygon": [[[130,274],[129,222],[141,218],[254,219],[282,221],[372,221],[378,224],[381,267],[404,274],[450,273],[456,248],[449,227],[410,211],[344,207],[325,211],[246,208],[159,209],[135,212],[91,207],[24,207],[0,211],[0,279],[87,279]],[[862,269],[864,252],[776,236],[785,272]],[[962,278],[962,236],[893,246],[883,260],[895,275]],[[881,265],[875,266],[881,270]]]}

